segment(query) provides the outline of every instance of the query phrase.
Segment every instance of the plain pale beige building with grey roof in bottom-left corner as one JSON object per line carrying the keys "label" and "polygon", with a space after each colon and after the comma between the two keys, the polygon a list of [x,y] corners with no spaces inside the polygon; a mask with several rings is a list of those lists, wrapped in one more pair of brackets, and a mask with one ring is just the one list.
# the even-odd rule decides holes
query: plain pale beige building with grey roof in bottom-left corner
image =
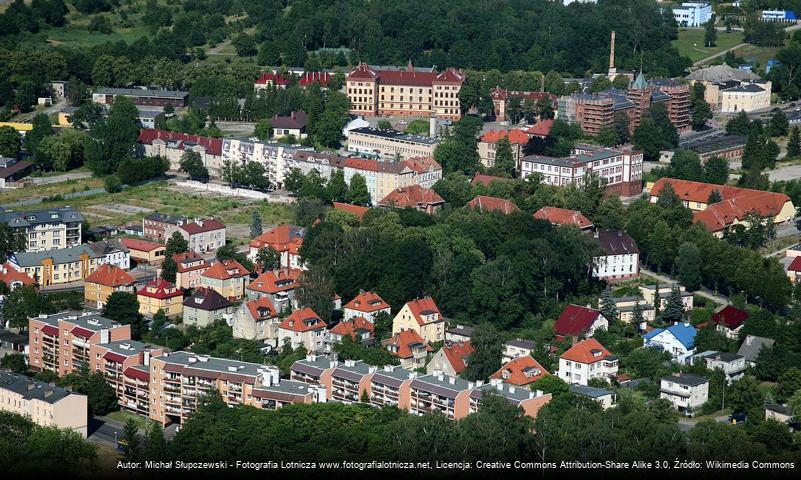
{"label": "plain pale beige building with grey roof in bottom-left corner", "polygon": [[0,371],[0,410],[28,417],[43,427],[57,427],[88,434],[86,395],[30,377]]}

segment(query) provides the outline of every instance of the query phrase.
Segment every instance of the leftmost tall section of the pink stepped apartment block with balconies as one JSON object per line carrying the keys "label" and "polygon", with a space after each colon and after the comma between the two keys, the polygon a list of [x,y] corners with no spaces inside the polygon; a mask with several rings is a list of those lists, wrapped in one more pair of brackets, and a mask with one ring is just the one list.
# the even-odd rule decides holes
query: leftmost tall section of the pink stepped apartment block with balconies
{"label": "leftmost tall section of the pink stepped apartment block with balconies", "polygon": [[93,345],[131,339],[131,326],[96,313],[39,315],[28,321],[28,365],[64,376],[89,367]]}

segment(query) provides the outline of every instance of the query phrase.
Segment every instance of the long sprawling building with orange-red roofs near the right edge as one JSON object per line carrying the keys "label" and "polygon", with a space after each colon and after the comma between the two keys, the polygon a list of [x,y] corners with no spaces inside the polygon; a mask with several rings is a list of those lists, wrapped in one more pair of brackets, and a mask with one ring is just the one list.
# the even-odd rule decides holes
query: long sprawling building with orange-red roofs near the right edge
{"label": "long sprawling building with orange-red roofs near the right edge", "polygon": [[[783,193],[711,183],[660,178],[650,192],[651,203],[659,201],[662,190],[670,185],[685,207],[693,211],[693,223],[704,225],[717,237],[731,226],[743,224],[746,214],[756,212],[763,221],[788,222],[795,218],[795,206]],[[709,203],[717,192],[721,201]]]}

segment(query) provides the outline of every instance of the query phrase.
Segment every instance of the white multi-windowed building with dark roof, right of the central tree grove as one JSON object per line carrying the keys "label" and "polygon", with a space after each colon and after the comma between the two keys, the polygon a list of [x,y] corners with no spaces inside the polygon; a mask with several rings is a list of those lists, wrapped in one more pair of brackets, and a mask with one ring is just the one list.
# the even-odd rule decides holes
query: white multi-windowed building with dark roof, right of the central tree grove
{"label": "white multi-windowed building with dark roof, right of the central tree grove", "polygon": [[603,254],[592,259],[593,277],[618,282],[640,276],[640,248],[623,231],[595,232]]}

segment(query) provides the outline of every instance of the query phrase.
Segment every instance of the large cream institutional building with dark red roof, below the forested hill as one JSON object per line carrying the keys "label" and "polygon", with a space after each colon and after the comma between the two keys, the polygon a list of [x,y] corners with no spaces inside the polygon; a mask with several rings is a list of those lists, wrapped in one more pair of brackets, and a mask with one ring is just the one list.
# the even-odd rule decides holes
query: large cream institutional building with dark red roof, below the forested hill
{"label": "large cream institutional building with dark red roof, below the forested hill", "polygon": [[348,74],[345,92],[354,115],[458,120],[464,81],[464,74],[452,68],[421,71],[409,62],[405,70],[379,70],[360,63]]}

